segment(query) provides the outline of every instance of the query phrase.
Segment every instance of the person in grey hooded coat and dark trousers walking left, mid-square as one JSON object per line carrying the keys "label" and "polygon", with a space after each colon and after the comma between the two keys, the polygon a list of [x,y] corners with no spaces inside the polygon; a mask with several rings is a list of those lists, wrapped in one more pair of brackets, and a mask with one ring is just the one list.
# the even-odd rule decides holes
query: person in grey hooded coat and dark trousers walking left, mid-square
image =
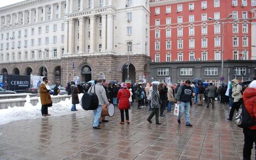
{"label": "person in grey hooded coat and dark trousers walking left, mid-square", "polygon": [[151,92],[151,108],[152,112],[148,116],[147,121],[149,123],[152,123],[151,119],[153,116],[155,116],[155,124],[161,125],[162,123],[159,123],[159,108],[161,106],[161,100],[159,98],[158,94],[158,84],[152,84],[152,92]]}

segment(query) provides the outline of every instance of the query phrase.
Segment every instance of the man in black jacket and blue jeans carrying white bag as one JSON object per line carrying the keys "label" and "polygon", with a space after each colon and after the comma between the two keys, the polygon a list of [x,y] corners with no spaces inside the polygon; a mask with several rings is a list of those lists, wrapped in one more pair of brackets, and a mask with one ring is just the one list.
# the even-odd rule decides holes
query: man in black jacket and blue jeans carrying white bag
{"label": "man in black jacket and blue jeans carrying white bag", "polygon": [[183,115],[183,112],[185,111],[185,124],[186,126],[192,127],[190,123],[190,101],[192,99],[192,96],[195,96],[193,88],[190,86],[191,81],[186,80],[185,85],[179,87],[179,90],[176,93],[176,100],[177,104],[180,105],[179,115],[178,115],[178,123],[181,123],[180,118]]}

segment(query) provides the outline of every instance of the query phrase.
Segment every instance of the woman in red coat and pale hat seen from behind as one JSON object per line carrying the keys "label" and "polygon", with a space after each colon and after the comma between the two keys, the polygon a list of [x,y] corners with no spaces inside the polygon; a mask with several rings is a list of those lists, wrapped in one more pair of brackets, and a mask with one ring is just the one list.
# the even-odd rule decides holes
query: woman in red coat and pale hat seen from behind
{"label": "woman in red coat and pale hat seen from behind", "polygon": [[118,108],[120,109],[121,112],[121,125],[124,125],[124,110],[125,110],[125,117],[126,117],[126,122],[129,124],[129,108],[130,108],[130,91],[127,89],[127,85],[123,82],[121,83],[121,88],[118,91]]}

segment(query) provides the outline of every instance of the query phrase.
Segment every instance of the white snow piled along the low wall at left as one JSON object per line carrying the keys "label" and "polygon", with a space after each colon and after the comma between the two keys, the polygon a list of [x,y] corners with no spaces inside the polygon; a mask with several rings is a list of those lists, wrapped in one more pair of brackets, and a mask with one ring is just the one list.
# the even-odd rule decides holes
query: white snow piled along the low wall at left
{"label": "white snow piled along the low wall at left", "polygon": [[[82,96],[82,93],[79,94],[79,99],[81,99]],[[53,106],[48,108],[48,113],[54,117],[72,114],[73,112],[70,111],[71,105],[71,98],[66,98],[64,101],[62,100],[59,103],[53,103]],[[80,104],[76,104],[76,109],[84,111]],[[38,102],[37,105],[33,106],[30,103],[29,96],[26,97],[26,103],[24,106],[0,109],[0,125],[4,125],[12,121],[36,119],[41,117],[41,103]]]}

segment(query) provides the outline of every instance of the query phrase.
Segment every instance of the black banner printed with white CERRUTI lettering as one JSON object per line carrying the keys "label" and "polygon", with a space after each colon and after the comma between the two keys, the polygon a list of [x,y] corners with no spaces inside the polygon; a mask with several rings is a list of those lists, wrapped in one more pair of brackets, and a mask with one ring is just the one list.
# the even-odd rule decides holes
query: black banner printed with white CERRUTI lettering
{"label": "black banner printed with white CERRUTI lettering", "polygon": [[8,75],[8,90],[25,92],[30,87],[30,75]]}

